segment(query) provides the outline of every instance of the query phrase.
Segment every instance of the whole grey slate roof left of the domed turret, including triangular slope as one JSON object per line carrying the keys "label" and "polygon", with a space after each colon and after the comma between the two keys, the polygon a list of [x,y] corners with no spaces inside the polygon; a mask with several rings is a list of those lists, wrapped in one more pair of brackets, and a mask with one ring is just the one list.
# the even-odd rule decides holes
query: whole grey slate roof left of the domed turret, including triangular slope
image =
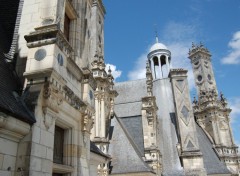
{"label": "whole grey slate roof left of the domed turret, including triangular slope", "polygon": [[[133,86],[139,89],[133,89]],[[111,174],[149,172],[153,170],[144,162],[142,130],[142,96],[147,95],[146,80],[116,83],[119,93],[115,100],[112,120],[112,139],[109,153],[112,156]]]}

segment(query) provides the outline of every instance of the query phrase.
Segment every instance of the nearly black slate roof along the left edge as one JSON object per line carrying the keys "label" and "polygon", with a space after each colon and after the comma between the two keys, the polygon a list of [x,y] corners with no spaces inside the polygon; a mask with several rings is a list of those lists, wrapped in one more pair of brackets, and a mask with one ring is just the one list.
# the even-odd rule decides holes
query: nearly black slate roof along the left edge
{"label": "nearly black slate roof along the left edge", "polygon": [[33,124],[36,120],[23,98],[19,96],[21,85],[12,69],[14,64],[7,62],[9,58],[5,55],[11,50],[11,45],[17,38],[15,29],[18,29],[18,26],[15,24],[18,25],[20,20],[17,16],[19,0],[3,0],[1,4],[4,5],[0,6],[0,111]]}

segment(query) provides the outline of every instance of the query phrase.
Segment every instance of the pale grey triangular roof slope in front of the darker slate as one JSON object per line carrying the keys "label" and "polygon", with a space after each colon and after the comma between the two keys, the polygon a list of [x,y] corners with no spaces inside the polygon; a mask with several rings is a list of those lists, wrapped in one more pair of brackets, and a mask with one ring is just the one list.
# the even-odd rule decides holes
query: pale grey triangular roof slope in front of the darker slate
{"label": "pale grey triangular roof slope in front of the darker slate", "polygon": [[114,117],[111,126],[113,126],[113,134],[109,146],[109,154],[112,156],[110,173],[153,172],[143,161],[141,153],[121,119]]}

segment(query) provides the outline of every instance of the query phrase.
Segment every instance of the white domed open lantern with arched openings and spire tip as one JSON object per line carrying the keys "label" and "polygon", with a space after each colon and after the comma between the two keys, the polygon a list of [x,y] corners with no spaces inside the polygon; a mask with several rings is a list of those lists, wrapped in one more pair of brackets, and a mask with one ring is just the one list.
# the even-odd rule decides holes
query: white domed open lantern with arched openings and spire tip
{"label": "white domed open lantern with arched openings and spire tip", "polygon": [[156,43],[150,48],[147,57],[153,79],[167,78],[171,65],[171,52],[164,44],[159,43],[158,37],[156,37]]}

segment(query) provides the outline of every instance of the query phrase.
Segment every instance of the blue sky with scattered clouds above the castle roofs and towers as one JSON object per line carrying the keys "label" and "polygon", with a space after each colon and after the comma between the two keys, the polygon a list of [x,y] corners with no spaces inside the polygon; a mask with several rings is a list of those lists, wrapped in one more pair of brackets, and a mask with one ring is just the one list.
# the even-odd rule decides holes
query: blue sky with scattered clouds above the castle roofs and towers
{"label": "blue sky with scattered clouds above the castle roofs and towers", "polygon": [[240,145],[240,1],[239,0],[104,0],[105,61],[116,81],[145,76],[146,55],[159,41],[172,52],[173,67],[189,70],[188,50],[200,41],[210,50],[219,92],[232,108],[231,124]]}

